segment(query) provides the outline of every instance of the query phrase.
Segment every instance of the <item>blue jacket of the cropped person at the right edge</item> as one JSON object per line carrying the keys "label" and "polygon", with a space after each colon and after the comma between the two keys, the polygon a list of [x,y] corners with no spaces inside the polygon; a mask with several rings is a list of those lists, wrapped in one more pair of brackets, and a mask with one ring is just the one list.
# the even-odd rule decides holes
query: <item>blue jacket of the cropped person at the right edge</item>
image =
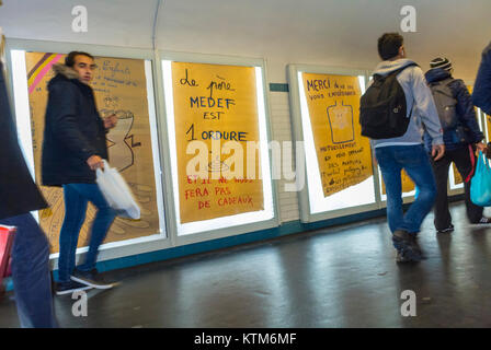
{"label": "blue jacket of the cropped person at the right edge", "polygon": [[472,102],[491,115],[491,43],[482,51],[481,66],[473,84]]}

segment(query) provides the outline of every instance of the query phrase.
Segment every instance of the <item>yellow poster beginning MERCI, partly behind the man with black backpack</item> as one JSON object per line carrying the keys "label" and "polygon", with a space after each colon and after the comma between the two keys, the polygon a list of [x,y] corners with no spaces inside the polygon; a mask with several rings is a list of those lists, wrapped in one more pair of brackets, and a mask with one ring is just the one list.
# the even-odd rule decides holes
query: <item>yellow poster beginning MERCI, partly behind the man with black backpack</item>
{"label": "yellow poster beginning MERCI, partly behind the man with black backpack", "polygon": [[357,77],[302,73],[324,197],[373,176],[369,140],[361,136]]}

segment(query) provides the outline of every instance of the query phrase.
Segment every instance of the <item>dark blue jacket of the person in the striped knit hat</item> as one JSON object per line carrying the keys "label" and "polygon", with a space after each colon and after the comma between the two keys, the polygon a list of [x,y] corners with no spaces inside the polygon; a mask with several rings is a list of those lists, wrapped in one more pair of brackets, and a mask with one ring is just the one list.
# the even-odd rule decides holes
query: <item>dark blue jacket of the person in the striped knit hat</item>
{"label": "dark blue jacket of the person in the striped knit hat", "polygon": [[[452,78],[452,74],[444,69],[434,68],[426,72],[425,78],[427,83],[431,84],[433,82]],[[484,136],[479,128],[472,98],[464,81],[460,79],[454,79],[448,86],[452,90],[452,94],[457,100],[456,108],[460,117],[458,127],[460,127],[460,129],[464,127],[467,130],[467,142],[461,142],[458,137],[457,129],[444,131],[443,141],[445,142],[445,149],[452,151],[467,147],[469,143],[478,143],[484,138]],[[431,139],[427,132],[424,133],[424,143],[426,150],[431,150]]]}

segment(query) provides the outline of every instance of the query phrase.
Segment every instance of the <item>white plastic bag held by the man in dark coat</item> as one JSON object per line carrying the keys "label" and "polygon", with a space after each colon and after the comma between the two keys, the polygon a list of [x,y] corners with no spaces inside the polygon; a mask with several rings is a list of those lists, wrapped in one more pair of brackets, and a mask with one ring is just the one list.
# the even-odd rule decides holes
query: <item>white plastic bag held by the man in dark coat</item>
{"label": "white plastic bag held by the man in dark coat", "polygon": [[140,219],[140,207],[133,197],[132,190],[118,171],[111,167],[103,160],[104,171],[95,171],[99,188],[111,208],[116,210],[117,215],[129,219]]}

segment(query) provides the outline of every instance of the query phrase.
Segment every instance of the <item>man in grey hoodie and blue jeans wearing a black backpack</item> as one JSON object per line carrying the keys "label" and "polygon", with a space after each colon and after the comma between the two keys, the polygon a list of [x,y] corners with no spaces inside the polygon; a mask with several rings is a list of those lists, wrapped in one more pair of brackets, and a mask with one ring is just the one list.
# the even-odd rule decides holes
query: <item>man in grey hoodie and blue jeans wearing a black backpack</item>
{"label": "man in grey hoodie and blue jeans wearing a black backpack", "polygon": [[[423,254],[418,244],[421,223],[433,207],[436,185],[421,128],[429,131],[432,156],[445,153],[443,131],[423,71],[406,59],[403,38],[397,33],[378,39],[382,59],[374,80],[362,96],[362,135],[372,139],[387,192],[387,221],[397,249],[397,261],[419,261]],[[418,186],[420,194],[406,214],[402,211],[401,171]]]}

